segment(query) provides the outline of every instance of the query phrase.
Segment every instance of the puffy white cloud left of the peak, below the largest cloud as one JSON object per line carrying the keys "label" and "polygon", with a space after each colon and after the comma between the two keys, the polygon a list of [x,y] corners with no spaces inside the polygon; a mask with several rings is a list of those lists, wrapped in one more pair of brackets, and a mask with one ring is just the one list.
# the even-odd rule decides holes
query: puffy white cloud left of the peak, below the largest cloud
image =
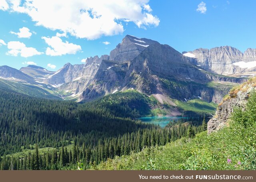
{"label": "puffy white cloud left of the peak, below the largest cloud", "polygon": [[68,43],[68,41],[63,42],[60,37],[53,36],[52,38],[49,37],[42,37],[44,41],[52,48],[47,47],[46,55],[50,56],[61,56],[66,54],[76,54],[77,51],[81,50],[80,45],[76,45],[73,43]]}

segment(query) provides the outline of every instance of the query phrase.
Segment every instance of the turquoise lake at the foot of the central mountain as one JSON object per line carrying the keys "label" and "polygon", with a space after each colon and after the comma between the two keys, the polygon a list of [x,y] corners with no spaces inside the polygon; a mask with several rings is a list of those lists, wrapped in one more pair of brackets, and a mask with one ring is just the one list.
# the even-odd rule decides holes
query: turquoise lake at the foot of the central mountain
{"label": "turquoise lake at the foot of the central mountain", "polygon": [[173,116],[152,116],[152,117],[140,117],[142,122],[144,123],[152,123],[155,125],[159,125],[160,127],[165,127],[170,121],[178,120],[184,117],[173,117]]}

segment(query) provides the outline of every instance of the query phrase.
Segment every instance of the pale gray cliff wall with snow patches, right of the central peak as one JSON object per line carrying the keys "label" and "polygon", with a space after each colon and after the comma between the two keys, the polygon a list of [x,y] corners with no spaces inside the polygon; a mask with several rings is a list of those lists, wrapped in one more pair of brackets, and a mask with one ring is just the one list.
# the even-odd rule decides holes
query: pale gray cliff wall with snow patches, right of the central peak
{"label": "pale gray cliff wall with snow patches, right of the central peak", "polygon": [[188,53],[191,53],[192,55],[186,53],[184,53],[184,55],[190,57],[190,62],[216,74],[228,75],[256,70],[256,68],[240,67],[239,65],[243,63],[234,65],[234,63],[241,61],[244,61],[245,63],[256,61],[256,49],[247,49],[242,53],[234,47],[223,46],[215,47],[210,50],[200,48],[194,51],[189,51]]}

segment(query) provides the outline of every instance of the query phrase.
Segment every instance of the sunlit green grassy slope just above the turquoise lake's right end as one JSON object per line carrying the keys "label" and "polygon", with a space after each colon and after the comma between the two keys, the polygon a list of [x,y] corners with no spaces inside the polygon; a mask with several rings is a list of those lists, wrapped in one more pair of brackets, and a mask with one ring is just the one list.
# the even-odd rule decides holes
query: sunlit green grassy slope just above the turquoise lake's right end
{"label": "sunlit green grassy slope just above the turquoise lake's right end", "polygon": [[218,104],[214,102],[206,102],[200,99],[189,100],[188,102],[183,102],[180,100],[175,100],[175,104],[185,111],[202,112],[214,114]]}

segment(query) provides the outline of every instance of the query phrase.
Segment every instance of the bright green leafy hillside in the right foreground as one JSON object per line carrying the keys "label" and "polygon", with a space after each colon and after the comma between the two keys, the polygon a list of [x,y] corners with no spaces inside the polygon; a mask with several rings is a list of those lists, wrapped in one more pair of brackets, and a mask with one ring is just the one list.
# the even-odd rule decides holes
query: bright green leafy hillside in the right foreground
{"label": "bright green leafy hillside in the right foreground", "polygon": [[109,159],[96,169],[110,170],[255,170],[256,92],[246,111],[236,109],[229,127],[195,138],[184,137],[165,146]]}

